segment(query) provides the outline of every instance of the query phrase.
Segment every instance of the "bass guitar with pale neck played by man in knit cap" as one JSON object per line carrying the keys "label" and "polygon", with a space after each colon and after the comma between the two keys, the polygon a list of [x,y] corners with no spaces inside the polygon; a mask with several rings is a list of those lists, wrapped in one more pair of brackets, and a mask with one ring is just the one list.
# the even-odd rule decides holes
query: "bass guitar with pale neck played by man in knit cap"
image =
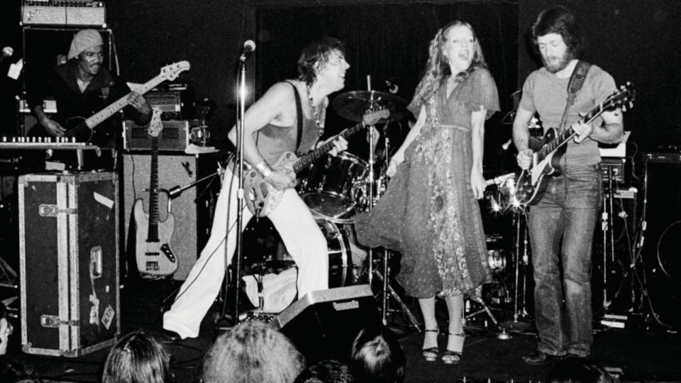
{"label": "bass guitar with pale neck played by man in knit cap", "polygon": [[[171,65],[166,65],[161,68],[160,73],[156,77],[143,84],[138,93],[145,94],[150,89],[155,88],[158,84],[166,80],[172,81],[185,70],[189,70],[188,61],[180,61]],[[74,137],[79,143],[89,143],[96,133],[94,128],[107,118],[113,116],[117,111],[128,106],[128,104],[128,94],[126,94],[101,111],[94,113],[89,118],[80,116],[68,118],[64,123],[64,128],[66,129],[66,133],[64,133],[65,137]]]}

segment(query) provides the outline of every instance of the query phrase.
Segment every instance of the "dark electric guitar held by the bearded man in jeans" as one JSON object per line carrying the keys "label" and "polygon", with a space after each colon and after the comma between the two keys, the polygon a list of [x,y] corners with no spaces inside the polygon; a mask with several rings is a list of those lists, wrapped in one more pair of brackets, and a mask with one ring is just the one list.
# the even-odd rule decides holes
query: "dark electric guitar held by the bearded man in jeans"
{"label": "dark electric guitar held by the bearded man in jeans", "polygon": [[[621,86],[618,91],[615,91],[603,102],[594,106],[580,119],[580,123],[591,123],[604,111],[617,108],[626,111],[627,105],[629,105],[629,108],[633,107],[634,95],[633,85],[627,82],[626,85]],[[560,133],[555,128],[549,128],[543,140],[530,138],[529,147],[534,152],[532,162],[527,170],[520,173],[516,182],[515,195],[519,204],[524,206],[538,204],[546,191],[547,176],[553,177],[562,172],[560,157],[565,154],[567,141],[576,134],[572,127],[568,127]]]}

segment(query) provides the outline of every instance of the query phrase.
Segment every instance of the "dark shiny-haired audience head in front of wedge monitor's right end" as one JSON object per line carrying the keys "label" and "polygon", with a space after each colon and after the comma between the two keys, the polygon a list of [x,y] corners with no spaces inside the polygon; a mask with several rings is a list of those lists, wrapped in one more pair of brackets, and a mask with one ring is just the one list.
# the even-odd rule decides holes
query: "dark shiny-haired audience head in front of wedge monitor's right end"
{"label": "dark shiny-haired audience head in front of wedge monitor's right end", "polygon": [[355,338],[352,372],[357,382],[404,382],[404,350],[385,326],[364,328]]}

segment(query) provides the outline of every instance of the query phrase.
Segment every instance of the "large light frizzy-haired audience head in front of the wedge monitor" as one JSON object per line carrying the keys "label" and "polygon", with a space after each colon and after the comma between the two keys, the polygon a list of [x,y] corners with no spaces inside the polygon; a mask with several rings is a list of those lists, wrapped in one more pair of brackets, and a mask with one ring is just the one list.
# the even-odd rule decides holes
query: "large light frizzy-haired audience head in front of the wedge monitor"
{"label": "large light frizzy-haired audience head in front of the wedge monitor", "polygon": [[204,357],[204,383],[293,382],[305,358],[274,328],[257,321],[218,336]]}

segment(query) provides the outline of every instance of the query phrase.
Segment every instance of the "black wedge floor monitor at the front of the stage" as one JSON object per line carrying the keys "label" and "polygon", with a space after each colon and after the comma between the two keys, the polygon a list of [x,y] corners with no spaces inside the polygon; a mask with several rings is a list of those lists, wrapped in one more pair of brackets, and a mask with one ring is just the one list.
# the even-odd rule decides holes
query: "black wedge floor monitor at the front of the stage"
{"label": "black wedge floor monitor at the front of the stage", "polygon": [[273,321],[308,363],[348,360],[353,340],[381,318],[368,284],[311,292],[279,313]]}

